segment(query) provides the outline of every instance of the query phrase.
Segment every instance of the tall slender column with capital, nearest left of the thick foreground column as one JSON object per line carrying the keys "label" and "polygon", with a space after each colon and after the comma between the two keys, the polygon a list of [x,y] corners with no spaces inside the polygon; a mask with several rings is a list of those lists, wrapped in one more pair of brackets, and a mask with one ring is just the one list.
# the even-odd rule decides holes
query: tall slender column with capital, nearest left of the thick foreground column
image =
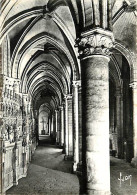
{"label": "tall slender column with capital, nearest left of the thick foreground column", "polygon": [[77,170],[79,163],[79,99],[78,99],[78,88],[81,85],[81,81],[73,81],[73,172]]}

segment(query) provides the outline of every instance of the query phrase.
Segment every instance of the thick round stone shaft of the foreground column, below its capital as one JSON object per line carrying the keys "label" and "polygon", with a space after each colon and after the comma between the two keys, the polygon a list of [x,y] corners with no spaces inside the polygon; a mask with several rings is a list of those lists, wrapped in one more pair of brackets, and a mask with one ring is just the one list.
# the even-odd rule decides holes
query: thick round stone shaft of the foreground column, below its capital
{"label": "thick round stone shaft of the foreground column, below its capital", "polygon": [[83,173],[87,194],[110,194],[108,62],[109,58],[101,55],[81,61]]}

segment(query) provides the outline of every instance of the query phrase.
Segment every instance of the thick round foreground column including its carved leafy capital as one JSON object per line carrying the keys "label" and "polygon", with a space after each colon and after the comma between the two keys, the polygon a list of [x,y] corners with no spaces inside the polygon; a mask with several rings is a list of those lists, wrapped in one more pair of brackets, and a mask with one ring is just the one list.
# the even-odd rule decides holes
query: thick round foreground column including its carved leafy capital
{"label": "thick round foreground column including its carved leafy capital", "polygon": [[77,40],[82,73],[83,193],[110,195],[109,49],[113,35],[103,29]]}

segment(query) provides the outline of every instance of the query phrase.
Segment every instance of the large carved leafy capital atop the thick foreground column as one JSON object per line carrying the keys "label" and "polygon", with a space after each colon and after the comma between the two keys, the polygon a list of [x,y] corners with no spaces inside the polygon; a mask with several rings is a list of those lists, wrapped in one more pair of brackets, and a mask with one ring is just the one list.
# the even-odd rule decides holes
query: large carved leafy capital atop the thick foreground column
{"label": "large carved leafy capital atop the thick foreground column", "polygon": [[96,28],[81,33],[75,46],[79,48],[79,58],[91,55],[109,56],[110,49],[114,46],[114,36],[111,31]]}

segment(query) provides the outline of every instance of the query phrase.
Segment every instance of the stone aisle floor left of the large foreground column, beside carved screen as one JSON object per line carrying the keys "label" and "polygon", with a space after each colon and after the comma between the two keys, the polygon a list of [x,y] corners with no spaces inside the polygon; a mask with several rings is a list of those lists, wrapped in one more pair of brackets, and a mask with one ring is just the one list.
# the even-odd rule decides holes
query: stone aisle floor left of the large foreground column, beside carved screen
{"label": "stone aisle floor left of the large foreground column, beside carved screen", "polygon": [[71,161],[64,161],[62,149],[55,145],[41,145],[35,151],[26,178],[7,194],[79,194],[79,181],[71,174]]}

